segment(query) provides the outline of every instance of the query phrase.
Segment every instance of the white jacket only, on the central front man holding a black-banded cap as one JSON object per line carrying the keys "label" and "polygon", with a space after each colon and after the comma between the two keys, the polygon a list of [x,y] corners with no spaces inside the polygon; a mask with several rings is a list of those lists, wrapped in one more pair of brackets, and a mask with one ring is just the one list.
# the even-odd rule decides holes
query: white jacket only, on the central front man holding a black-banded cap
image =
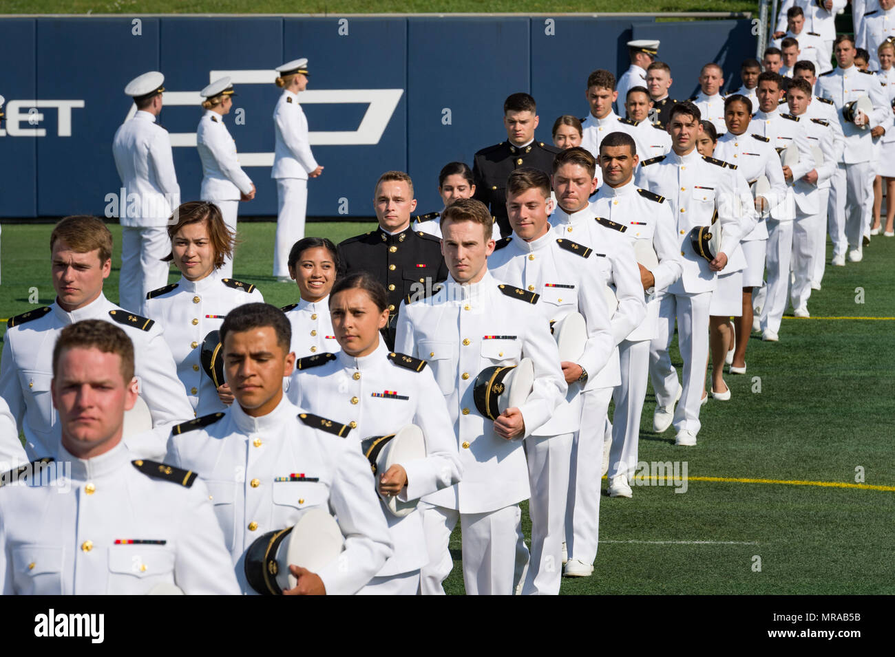
{"label": "white jacket only, on the central front man holding a black-banded cap", "polygon": [[485,367],[516,366],[522,358],[532,358],[533,392],[519,407],[525,435],[565,403],[557,343],[533,298],[532,292],[486,272],[482,281],[467,285],[448,276],[428,299],[402,302],[395,349],[429,362],[447,400],[463,466],[459,484],[423,501],[461,513],[486,513],[529,497],[523,441],[494,433],[493,421],[475,408],[473,383]]}

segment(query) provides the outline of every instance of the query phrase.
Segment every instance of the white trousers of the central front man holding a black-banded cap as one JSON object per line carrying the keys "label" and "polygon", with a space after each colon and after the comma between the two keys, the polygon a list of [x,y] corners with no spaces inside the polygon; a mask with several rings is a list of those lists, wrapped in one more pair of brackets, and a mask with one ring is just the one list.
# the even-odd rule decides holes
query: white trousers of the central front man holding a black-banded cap
{"label": "white trousers of the central front man holding a black-banded cap", "polygon": [[467,595],[510,595],[516,555],[516,525],[522,518],[518,504],[487,513],[460,513],[456,509],[420,503],[429,563],[421,571],[423,595],[443,595],[441,583],[454,561],[448,544],[460,521],[463,534],[463,582]]}

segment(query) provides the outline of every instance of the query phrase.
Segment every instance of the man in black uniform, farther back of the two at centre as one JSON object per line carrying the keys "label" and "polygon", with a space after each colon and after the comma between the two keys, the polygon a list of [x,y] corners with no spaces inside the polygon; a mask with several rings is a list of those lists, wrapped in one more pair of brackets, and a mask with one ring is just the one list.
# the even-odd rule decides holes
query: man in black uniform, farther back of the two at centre
{"label": "man in black uniform, farther back of the two at centre", "polygon": [[538,127],[537,106],[528,94],[512,94],[504,101],[504,127],[507,141],[482,148],[475,154],[473,178],[475,195],[488,206],[504,237],[513,231],[507,218],[507,178],[520,166],[532,166],[551,175],[553,158],[559,148],[535,141]]}

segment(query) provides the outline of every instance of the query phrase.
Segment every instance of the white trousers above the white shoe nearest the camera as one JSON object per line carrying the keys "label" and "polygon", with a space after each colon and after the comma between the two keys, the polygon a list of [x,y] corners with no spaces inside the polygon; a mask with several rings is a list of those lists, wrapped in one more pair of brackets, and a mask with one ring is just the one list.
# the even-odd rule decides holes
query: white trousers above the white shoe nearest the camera
{"label": "white trousers above the white shoe nearest the camera", "polygon": [[581,394],[581,428],[572,442],[568,477],[566,548],[569,559],[592,564],[600,541],[603,430],[612,388],[585,390]]}

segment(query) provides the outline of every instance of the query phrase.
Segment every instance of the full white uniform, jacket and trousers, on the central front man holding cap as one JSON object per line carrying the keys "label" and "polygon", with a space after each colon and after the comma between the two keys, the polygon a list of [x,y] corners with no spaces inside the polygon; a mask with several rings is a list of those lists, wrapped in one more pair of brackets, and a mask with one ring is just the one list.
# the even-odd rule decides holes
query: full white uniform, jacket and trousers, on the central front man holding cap
{"label": "full white uniform, jacket and trousers, on the central front man holding cap", "polygon": [[429,361],[447,400],[463,466],[459,484],[423,498],[430,559],[422,569],[423,594],[443,593],[441,582],[453,566],[447,545],[457,520],[466,594],[513,593],[518,504],[530,495],[523,441],[495,434],[494,423],[475,407],[473,383],[486,367],[533,360],[533,392],[519,407],[524,436],[565,403],[557,343],[534,306],[537,299],[485,272],[481,281],[466,285],[448,277],[430,298],[405,301],[398,313],[395,349]]}

